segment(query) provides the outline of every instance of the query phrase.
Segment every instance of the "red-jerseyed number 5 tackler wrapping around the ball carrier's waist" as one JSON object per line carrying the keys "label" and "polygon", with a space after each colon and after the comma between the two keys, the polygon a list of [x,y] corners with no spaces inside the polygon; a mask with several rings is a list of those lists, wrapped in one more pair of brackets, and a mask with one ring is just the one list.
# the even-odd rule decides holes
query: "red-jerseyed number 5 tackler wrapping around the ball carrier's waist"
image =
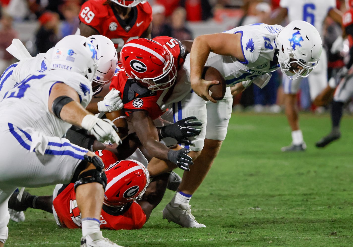
{"label": "red-jerseyed number 5 tackler wrapping around the ball carrier's waist", "polygon": [[[190,42],[185,42],[185,45],[189,46]],[[110,83],[110,89],[121,92],[127,120],[143,147],[151,157],[171,161],[165,164],[169,170],[174,169],[175,164],[189,170],[189,165],[193,164],[192,158],[187,155],[187,148],[178,146],[177,150],[171,150],[160,143],[153,120],[166,111],[162,105],[174,91],[177,71],[183,65],[186,54],[184,45],[171,37],[131,40],[120,52],[123,67]],[[183,96],[183,90],[179,88],[174,92]],[[187,89],[189,92],[190,89]],[[163,131],[161,135],[166,136]],[[149,165],[148,169],[151,176],[160,171],[160,167],[153,165]]]}

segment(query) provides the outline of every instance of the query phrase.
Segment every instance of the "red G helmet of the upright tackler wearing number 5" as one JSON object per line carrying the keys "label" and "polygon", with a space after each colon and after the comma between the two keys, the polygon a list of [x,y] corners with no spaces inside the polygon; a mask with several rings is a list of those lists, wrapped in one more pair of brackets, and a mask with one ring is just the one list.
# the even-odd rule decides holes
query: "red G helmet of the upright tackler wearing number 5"
{"label": "red G helmet of the upright tackler wearing number 5", "polygon": [[173,86],[177,78],[172,53],[152,39],[132,39],[120,51],[120,61],[128,77],[149,90]]}

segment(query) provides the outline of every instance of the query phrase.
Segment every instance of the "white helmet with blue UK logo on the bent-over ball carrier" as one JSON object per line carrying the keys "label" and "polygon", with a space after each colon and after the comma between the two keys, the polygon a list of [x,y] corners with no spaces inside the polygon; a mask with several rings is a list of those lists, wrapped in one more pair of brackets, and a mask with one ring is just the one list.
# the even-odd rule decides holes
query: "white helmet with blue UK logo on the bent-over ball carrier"
{"label": "white helmet with blue UK logo on the bent-over ball carrier", "polygon": [[[319,32],[313,25],[301,20],[292,21],[277,34],[276,46],[281,70],[291,79],[307,77],[317,66],[322,52]],[[291,69],[294,63],[303,69]]]}

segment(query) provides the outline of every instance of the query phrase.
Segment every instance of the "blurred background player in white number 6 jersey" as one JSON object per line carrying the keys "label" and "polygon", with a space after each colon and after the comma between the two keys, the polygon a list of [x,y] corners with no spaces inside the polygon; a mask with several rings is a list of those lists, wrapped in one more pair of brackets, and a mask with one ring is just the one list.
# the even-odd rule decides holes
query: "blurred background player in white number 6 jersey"
{"label": "blurred background player in white number 6 jersey", "polygon": [[[277,16],[267,23],[281,23],[286,17],[289,21],[304,20],[312,24],[323,37],[323,21],[329,16],[334,21],[342,24],[342,13],[336,8],[335,0],[281,0],[280,9]],[[323,50],[321,61],[318,67],[308,76],[310,97],[315,103],[317,96],[327,87],[327,55]],[[303,133],[299,128],[298,109],[296,107],[297,93],[300,88],[301,80],[291,80],[291,78],[283,76],[282,84],[285,93],[285,112],[289,125],[292,129],[292,144],[282,147],[283,152],[286,151],[304,151],[306,144],[303,139]]]}

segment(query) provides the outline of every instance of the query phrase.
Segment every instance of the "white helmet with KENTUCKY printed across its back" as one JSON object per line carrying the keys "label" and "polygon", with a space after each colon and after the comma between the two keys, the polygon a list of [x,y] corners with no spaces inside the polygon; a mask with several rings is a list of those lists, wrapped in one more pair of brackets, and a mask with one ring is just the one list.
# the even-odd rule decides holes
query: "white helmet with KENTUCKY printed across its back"
{"label": "white helmet with KENTUCKY printed across its back", "polygon": [[49,69],[78,72],[92,81],[97,70],[97,50],[84,36],[65,36],[54,46]]}

